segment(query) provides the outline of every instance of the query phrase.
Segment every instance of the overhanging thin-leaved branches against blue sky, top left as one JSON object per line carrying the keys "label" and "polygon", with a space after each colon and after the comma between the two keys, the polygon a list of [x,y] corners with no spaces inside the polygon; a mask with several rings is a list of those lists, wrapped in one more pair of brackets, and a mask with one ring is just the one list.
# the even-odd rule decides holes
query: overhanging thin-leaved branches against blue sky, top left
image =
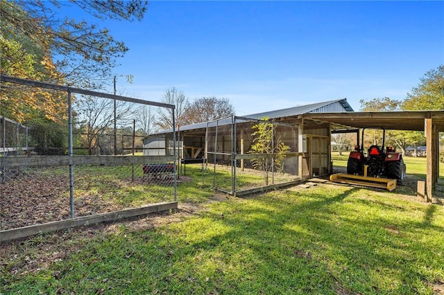
{"label": "overhanging thin-leaved branches against blue sky, top left", "polygon": [[[140,20],[148,1],[9,1],[0,0],[1,33],[26,40],[54,58],[54,66],[70,84],[98,87],[110,78],[117,58],[128,47],[107,28],[60,16],[62,6],[79,6],[98,19]],[[95,81],[93,83],[93,81]]]}

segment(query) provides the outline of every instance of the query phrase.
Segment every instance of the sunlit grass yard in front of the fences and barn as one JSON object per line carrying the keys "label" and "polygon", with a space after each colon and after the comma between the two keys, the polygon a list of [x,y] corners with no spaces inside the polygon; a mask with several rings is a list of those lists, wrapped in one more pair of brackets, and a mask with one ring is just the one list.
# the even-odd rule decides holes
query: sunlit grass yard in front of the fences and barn
{"label": "sunlit grass yard in front of the fences and barn", "polygon": [[[425,177],[420,161],[409,177]],[[241,199],[187,176],[178,211],[1,244],[0,293],[444,294],[444,207],[413,188]]]}

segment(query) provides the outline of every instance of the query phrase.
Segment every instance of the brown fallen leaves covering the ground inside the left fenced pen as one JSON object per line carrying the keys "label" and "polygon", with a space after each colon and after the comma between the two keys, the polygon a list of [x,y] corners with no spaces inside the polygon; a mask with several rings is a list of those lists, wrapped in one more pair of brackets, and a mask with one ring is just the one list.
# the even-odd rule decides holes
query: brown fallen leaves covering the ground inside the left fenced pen
{"label": "brown fallen leaves covering the ground inside the left fenced pen", "polygon": [[[92,192],[76,195],[74,215],[85,216],[123,209]],[[24,173],[0,184],[0,230],[44,224],[71,217],[69,175],[45,171]]]}

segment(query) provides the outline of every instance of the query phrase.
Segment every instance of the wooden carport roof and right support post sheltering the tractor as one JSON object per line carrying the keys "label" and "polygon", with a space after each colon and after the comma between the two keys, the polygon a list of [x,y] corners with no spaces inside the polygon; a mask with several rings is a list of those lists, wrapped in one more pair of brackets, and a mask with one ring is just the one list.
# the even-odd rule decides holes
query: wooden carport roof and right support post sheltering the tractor
{"label": "wooden carport roof and right support post sheltering the tractor", "polygon": [[439,177],[439,132],[444,132],[444,110],[431,111],[354,111],[303,114],[305,124],[329,123],[332,130],[345,128],[384,127],[392,130],[424,131],[427,138],[426,193],[432,202]]}

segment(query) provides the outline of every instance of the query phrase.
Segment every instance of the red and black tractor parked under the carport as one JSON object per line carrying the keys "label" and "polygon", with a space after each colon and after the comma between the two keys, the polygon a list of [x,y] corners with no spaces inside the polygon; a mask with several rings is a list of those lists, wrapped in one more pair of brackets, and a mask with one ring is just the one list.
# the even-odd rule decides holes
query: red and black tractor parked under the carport
{"label": "red and black tractor parked under the carport", "polygon": [[350,152],[347,174],[364,175],[364,166],[367,166],[366,176],[396,179],[398,184],[402,184],[406,171],[404,160],[402,154],[395,152],[393,147],[384,149],[386,130],[384,128],[371,128],[382,130],[382,145],[370,145],[367,153],[364,154],[365,129],[362,129],[361,145],[359,146],[358,143],[355,146],[355,151]]}

